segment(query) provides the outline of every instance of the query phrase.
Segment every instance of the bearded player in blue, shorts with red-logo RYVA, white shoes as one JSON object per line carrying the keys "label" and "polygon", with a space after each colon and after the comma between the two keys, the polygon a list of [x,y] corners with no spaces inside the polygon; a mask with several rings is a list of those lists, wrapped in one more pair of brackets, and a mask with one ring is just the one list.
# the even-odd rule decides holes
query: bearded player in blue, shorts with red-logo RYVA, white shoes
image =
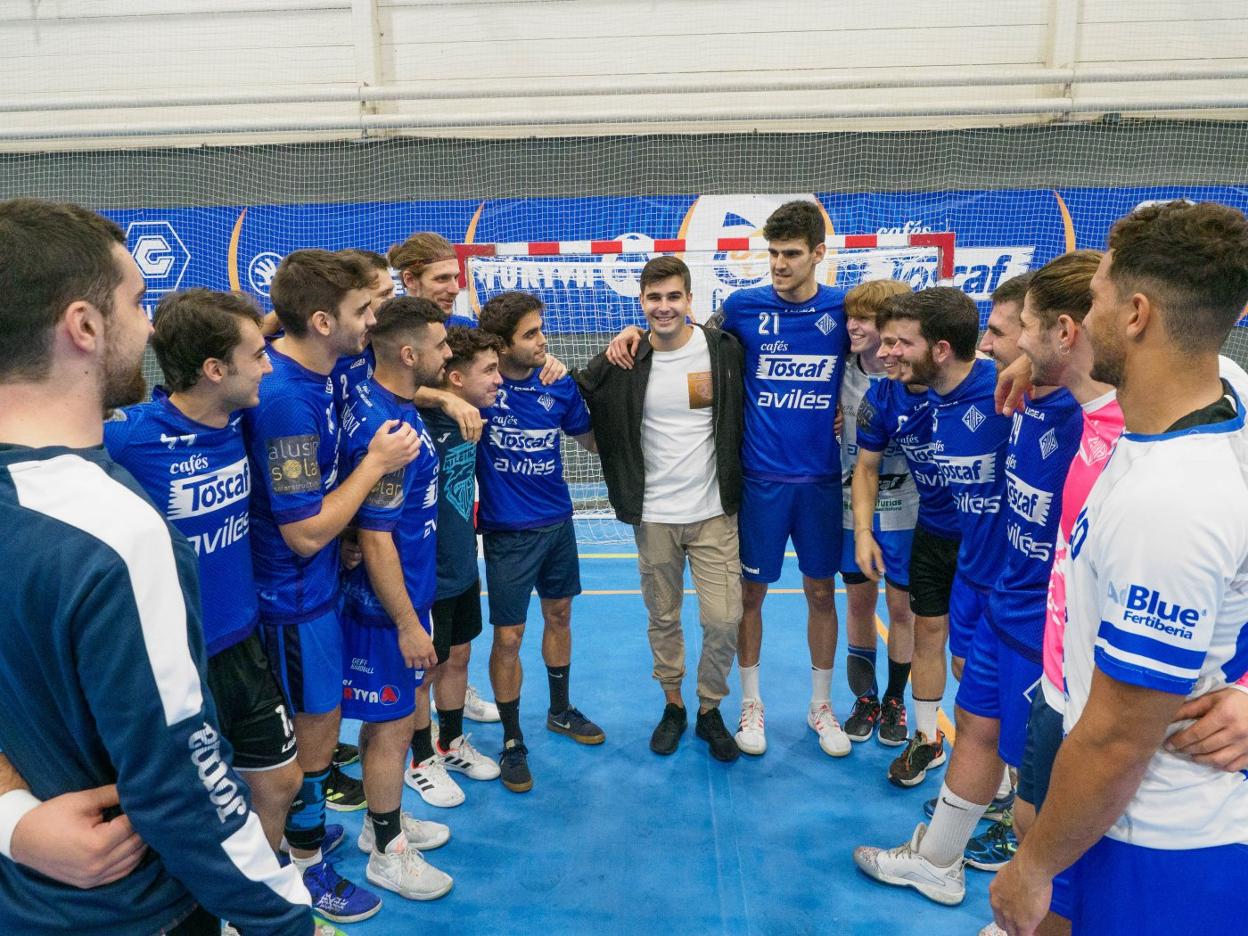
{"label": "bearded player in blue, shorts with red-logo RYVA, white shoes", "polygon": [[[378,433],[396,422],[421,439],[408,466],[377,480],[356,514],[364,560],[343,584],[342,713],[364,723],[359,733],[368,815],[359,849],[368,880],[409,900],[434,900],[451,877],[421,857],[451,834],[438,822],[402,812],[403,766],[418,708],[429,723],[426,670],[437,661],[429,622],[436,585],[438,458],[412,403],[416,388],[437,383],[451,356],[446,313],[428,300],[402,296],[377,312],[373,376],[359,384],[342,416],[344,468],[362,464]],[[419,686],[419,689],[418,689]]]}

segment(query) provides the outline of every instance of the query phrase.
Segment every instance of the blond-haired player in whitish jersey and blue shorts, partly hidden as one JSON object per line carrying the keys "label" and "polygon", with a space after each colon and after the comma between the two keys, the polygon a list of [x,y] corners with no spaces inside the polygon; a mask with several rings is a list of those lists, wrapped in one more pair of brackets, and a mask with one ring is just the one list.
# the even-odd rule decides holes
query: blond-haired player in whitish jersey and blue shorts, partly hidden
{"label": "blond-haired player in whitish jersey and blue shorts, partly hidden", "polygon": [[[850,359],[841,383],[841,472],[844,492],[841,545],[841,578],[849,604],[845,622],[846,679],[855,695],[854,710],[845,720],[845,734],[851,741],[866,741],[880,731],[880,744],[896,746],[906,743],[906,681],[915,645],[915,619],[910,610],[910,550],[919,517],[919,490],[910,475],[906,454],[892,444],[871,459],[875,498],[864,518],[864,538],[871,539],[884,562],[885,600],[889,608],[889,684],[880,703],[876,679],[875,609],[880,598],[879,582],[861,572],[855,562],[854,543],[857,538],[854,519],[854,469],[860,457],[857,417],[872,422],[872,404],[861,409],[872,384],[896,377],[896,366],[885,353],[876,327],[880,308],[894,296],[910,295],[910,286],[897,280],[870,280],[845,293],[846,328],[850,334]],[[891,372],[891,373],[890,373]],[[875,456],[879,456],[876,458]]]}

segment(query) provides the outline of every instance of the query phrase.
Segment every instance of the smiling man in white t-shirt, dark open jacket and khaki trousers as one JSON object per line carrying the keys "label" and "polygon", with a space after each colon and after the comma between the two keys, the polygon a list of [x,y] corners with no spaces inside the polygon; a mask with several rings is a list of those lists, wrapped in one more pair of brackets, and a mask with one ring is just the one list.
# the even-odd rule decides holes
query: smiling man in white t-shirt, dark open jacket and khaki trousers
{"label": "smiling man in white t-shirt, dark open jacket and khaki trousers", "polygon": [[728,695],[741,620],[743,353],[733,336],[690,324],[690,301],[689,267],[676,257],[655,257],[641,271],[649,331],[633,369],[599,354],[575,377],[612,507],[636,538],[654,678],[666,700],[650,750],[673,754],[688,724],[680,695],[688,558],[703,625],[696,734],[714,758],[729,761],[739,750],[719,703]]}

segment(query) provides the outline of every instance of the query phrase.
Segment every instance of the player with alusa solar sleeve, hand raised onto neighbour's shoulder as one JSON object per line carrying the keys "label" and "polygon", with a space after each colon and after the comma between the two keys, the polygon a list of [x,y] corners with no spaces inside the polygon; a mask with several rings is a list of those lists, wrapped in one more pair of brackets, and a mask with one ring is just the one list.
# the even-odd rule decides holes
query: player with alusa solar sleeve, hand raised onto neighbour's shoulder
{"label": "player with alusa solar sleeve, hand raised onto neighbour's shoulder", "polygon": [[[261,633],[295,709],[303,784],[286,820],[295,865],[319,912],[336,922],[372,916],[381,901],[324,861],[326,781],[338,740],[342,629],[338,534],[384,475],[419,451],[411,426],[388,422],[339,482],[338,406],[331,373],[363,351],[376,321],[364,266],[328,251],[295,251],[271,297],[286,333],[270,343],[273,369],[243,414],[252,478],[251,535]],[[362,807],[359,802],[358,807]]]}

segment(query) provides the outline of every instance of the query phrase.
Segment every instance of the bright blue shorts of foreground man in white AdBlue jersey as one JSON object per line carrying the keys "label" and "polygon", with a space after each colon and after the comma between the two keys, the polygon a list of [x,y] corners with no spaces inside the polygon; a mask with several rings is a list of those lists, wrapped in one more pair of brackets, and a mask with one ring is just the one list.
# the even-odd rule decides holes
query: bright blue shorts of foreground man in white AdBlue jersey
{"label": "bright blue shorts of foreground man in white AdBlue jersey", "polygon": [[1248,845],[1169,851],[1101,839],[1071,866],[1075,934],[1243,932]]}

